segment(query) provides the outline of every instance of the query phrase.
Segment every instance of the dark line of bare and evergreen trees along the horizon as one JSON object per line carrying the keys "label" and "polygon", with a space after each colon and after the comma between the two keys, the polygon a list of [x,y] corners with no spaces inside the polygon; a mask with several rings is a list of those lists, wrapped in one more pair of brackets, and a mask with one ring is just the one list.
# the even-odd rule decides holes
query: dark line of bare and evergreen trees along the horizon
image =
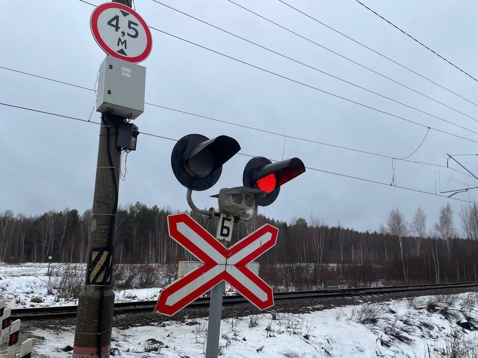
{"label": "dark line of bare and evergreen trees along the horizon", "polygon": [[[120,206],[115,263],[171,264],[193,259],[168,236],[167,216],[171,213],[169,208],[139,202]],[[427,226],[421,208],[409,221],[394,209],[374,232],[358,232],[340,224],[328,226],[316,218],[296,218],[286,223],[258,215],[249,223],[235,226],[233,242],[270,223],[279,228],[279,236],[275,248],[259,259],[264,268],[313,264],[314,277],[340,275],[339,282],[353,275],[360,276],[359,282],[476,280],[478,210],[475,205],[462,208],[461,233],[454,226],[453,215],[446,205],[439,221]],[[196,213],[192,216],[215,235],[217,219]],[[83,263],[91,224],[90,210],[81,215],[75,209],[65,209],[39,216],[4,211],[0,213],[0,261],[47,262],[52,256],[53,262]]]}

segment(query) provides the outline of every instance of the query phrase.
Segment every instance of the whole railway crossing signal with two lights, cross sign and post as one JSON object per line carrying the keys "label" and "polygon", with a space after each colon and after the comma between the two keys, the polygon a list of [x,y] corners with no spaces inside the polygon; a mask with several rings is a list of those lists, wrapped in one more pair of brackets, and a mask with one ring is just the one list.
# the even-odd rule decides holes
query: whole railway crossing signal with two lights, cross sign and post
{"label": "whole railway crossing signal with two lights, cross sign and post", "polygon": [[[171,316],[202,294],[211,291],[206,358],[217,358],[221,329],[221,310],[226,282],[260,310],[274,305],[272,288],[247,265],[271,249],[278,229],[266,224],[229,247],[234,224],[248,222],[257,214],[257,205],[271,204],[280,186],[305,172],[298,158],[271,163],[263,157],[252,158],[244,168],[243,186],[222,188],[219,210],[199,209],[193,190],[206,190],[219,180],[223,165],[240,150],[239,143],[227,136],[209,139],[200,134],[181,138],[171,153],[174,176],[188,190],[189,207],[210,219],[219,217],[216,239],[186,213],[168,216],[169,236],[201,263],[165,287],[154,312]],[[247,215],[248,212],[251,212]],[[219,242],[218,242],[219,241]]]}

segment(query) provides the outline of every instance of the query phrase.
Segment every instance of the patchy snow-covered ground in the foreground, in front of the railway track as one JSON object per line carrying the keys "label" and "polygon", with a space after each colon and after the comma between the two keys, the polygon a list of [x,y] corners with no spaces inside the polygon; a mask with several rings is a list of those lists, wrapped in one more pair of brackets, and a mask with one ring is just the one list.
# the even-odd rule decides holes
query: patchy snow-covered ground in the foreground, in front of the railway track
{"label": "patchy snow-covered ground in the foreground, in front of the railway track", "polygon": [[[421,358],[450,357],[440,350],[449,342],[471,346],[454,357],[478,357],[478,293],[425,296],[347,306],[308,314],[269,313],[221,323],[222,357],[267,358]],[[67,358],[74,327],[61,332],[33,330],[33,357]],[[207,320],[168,322],[113,330],[117,357],[204,357]],[[463,342],[462,342],[463,341]],[[448,342],[448,343],[447,343]],[[426,354],[427,351],[431,353]]]}

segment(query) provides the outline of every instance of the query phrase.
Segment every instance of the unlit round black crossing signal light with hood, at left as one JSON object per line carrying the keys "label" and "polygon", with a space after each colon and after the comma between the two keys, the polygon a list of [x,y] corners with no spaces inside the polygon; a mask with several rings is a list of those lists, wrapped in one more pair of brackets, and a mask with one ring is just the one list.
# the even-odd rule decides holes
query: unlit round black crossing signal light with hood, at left
{"label": "unlit round black crossing signal light with hood, at left", "polygon": [[240,150],[236,139],[201,134],[181,138],[171,153],[171,168],[178,181],[191,190],[206,190],[221,177],[223,164]]}

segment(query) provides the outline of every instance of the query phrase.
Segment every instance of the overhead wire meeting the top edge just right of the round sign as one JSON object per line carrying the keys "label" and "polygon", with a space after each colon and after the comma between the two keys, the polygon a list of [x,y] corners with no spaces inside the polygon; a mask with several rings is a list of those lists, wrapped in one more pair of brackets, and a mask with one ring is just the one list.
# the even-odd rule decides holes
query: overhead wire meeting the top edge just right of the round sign
{"label": "overhead wire meeting the top edge just right of the round sign", "polygon": [[[245,42],[247,42],[247,43],[250,43],[250,44],[252,44],[252,45],[254,45],[254,46],[260,47],[260,48],[262,48],[262,49],[264,49],[264,50],[266,50],[266,51],[269,51],[269,52],[274,53],[274,54],[276,54],[276,55],[278,55],[278,56],[281,56],[281,57],[283,57],[283,58],[286,58],[286,59],[288,59],[288,60],[290,60],[290,61],[293,61],[293,62],[295,62],[295,63],[298,63],[298,64],[300,64],[300,65],[302,65],[302,66],[305,66],[305,67],[307,67],[307,68],[310,68],[310,69],[312,69],[312,70],[314,70],[314,71],[320,72],[320,73],[322,73],[322,74],[324,74],[324,75],[326,75],[326,76],[332,77],[332,78],[334,78],[334,79],[336,79],[336,80],[342,81],[342,82],[344,82],[344,83],[347,83],[347,84],[352,85],[352,86],[354,86],[354,87],[357,87],[357,88],[359,88],[359,89],[363,89],[363,90],[365,90],[365,91],[367,91],[367,92],[373,93],[373,94],[378,95],[378,96],[380,96],[380,97],[382,97],[382,98],[386,98],[386,99],[388,99],[388,100],[390,100],[390,101],[393,101],[393,102],[395,102],[395,103],[401,104],[401,105],[403,105],[403,106],[405,106],[405,107],[408,107],[408,108],[413,109],[413,110],[415,110],[415,111],[418,111],[418,112],[420,112],[420,113],[429,115],[429,116],[431,116],[431,117],[433,117],[433,118],[439,119],[439,120],[441,120],[441,121],[447,122],[447,123],[452,124],[452,125],[454,125],[454,126],[457,126],[457,127],[459,127],[459,128],[462,128],[462,129],[465,129],[465,130],[470,131],[470,132],[472,132],[472,133],[478,134],[478,132],[475,132],[475,131],[473,131],[473,130],[471,130],[471,129],[469,129],[469,128],[466,128],[466,127],[463,127],[463,126],[461,126],[461,125],[458,125],[458,124],[456,124],[456,123],[454,123],[454,122],[452,122],[452,121],[446,120],[446,119],[441,118],[441,117],[439,117],[439,116],[436,116],[436,115],[434,115],[434,114],[432,114],[432,113],[426,112],[426,111],[424,111],[424,110],[421,110],[421,109],[419,109],[419,108],[413,107],[413,106],[411,106],[411,105],[408,105],[408,104],[403,103],[403,102],[401,102],[401,101],[398,101],[398,100],[396,100],[396,99],[390,98],[390,97],[388,97],[388,96],[386,96],[386,95],[384,95],[384,94],[375,92],[375,91],[373,91],[373,90],[371,90],[371,89],[367,89],[367,88],[365,88],[365,87],[363,87],[363,86],[360,86],[360,85],[357,85],[357,84],[355,84],[355,83],[353,83],[353,82],[344,80],[343,78],[340,78],[340,77],[338,77],[338,76],[332,75],[332,74],[330,74],[330,73],[328,73],[328,72],[326,72],[326,71],[322,71],[322,70],[320,70],[320,69],[318,69],[318,68],[316,68],[316,67],[314,67],[314,66],[308,65],[308,64],[306,64],[306,63],[304,63],[304,62],[301,62],[301,61],[299,61],[299,60],[297,60],[297,59],[294,59],[294,58],[292,58],[292,57],[286,56],[286,55],[284,55],[284,54],[282,54],[282,53],[280,53],[280,52],[274,51],[274,50],[272,50],[272,49],[270,49],[270,48],[268,48],[268,47],[265,47],[265,46],[260,45],[260,44],[258,44],[258,43],[256,43],[256,42],[253,42],[253,41],[251,41],[251,40],[248,40],[248,39],[246,39],[246,38],[244,38],[244,37],[242,37],[242,36],[239,36],[239,35],[237,35],[237,34],[235,34],[235,33],[233,33],[233,32],[230,32],[230,31],[228,31],[228,30],[225,30],[225,29],[223,29],[223,28],[221,28],[221,27],[219,27],[219,26],[213,25],[213,24],[210,23],[210,22],[201,20],[200,18],[197,18],[197,17],[195,17],[195,16],[193,16],[193,15],[191,15],[191,14],[188,14],[188,13],[186,13],[186,12],[183,12],[183,11],[181,11],[181,10],[178,10],[178,9],[176,9],[176,8],[174,8],[174,7],[172,7],[172,6],[169,6],[169,5],[165,4],[165,3],[162,3],[161,1],[158,1],[158,0],[152,0],[152,1],[154,1],[154,2],[156,2],[156,3],[158,3],[158,4],[160,4],[160,5],[162,5],[162,6],[164,6],[164,7],[167,7],[167,8],[169,8],[169,9],[173,10],[173,11],[179,12],[179,13],[185,15],[185,16],[188,16],[188,17],[190,17],[190,18],[192,18],[192,19],[195,19],[196,21],[199,21],[199,22],[202,22],[202,23],[204,23],[204,24],[206,24],[206,25],[208,25],[208,26],[211,26],[211,27],[213,27],[213,28],[215,28],[215,29],[217,29],[217,30],[219,30],[219,31],[222,31],[222,32],[227,33],[227,34],[229,34],[229,35],[231,35],[231,36],[234,36],[234,37],[236,37],[236,38],[239,38],[239,39],[241,39],[241,40],[243,40],[243,41],[245,41]],[[280,0],[279,0],[279,1],[280,1]],[[475,118],[473,118],[473,119],[474,119],[475,121],[478,121],[478,120],[475,119]]]}

